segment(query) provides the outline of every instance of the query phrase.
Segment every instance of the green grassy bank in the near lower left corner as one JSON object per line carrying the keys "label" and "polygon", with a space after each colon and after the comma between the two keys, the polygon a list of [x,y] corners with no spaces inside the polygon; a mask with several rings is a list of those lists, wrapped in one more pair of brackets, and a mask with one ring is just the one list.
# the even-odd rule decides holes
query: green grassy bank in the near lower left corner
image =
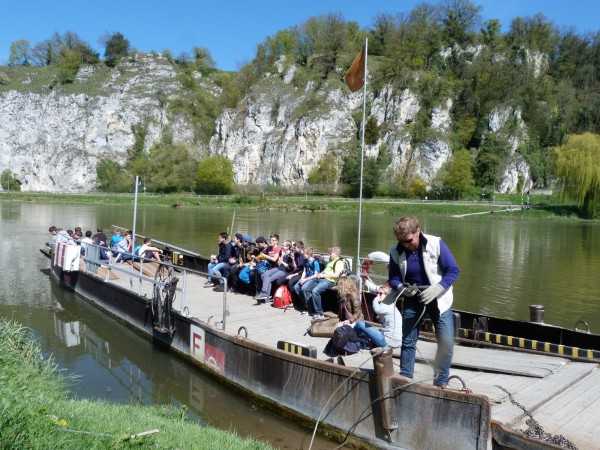
{"label": "green grassy bank in the near lower left corner", "polygon": [[26,329],[0,319],[0,342],[0,448],[271,448],[200,427],[171,406],[69,399],[67,381]]}

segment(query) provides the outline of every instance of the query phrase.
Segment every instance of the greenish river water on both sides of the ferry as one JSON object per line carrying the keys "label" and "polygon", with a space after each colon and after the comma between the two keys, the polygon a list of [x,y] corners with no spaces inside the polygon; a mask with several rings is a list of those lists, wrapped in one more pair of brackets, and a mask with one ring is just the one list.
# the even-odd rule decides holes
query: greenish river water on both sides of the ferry
{"label": "greenish river water on both sides of the ferry", "polygon": [[[517,211],[513,214],[526,214]],[[219,232],[253,237],[278,233],[318,249],[357,252],[357,214],[234,211],[228,208],[139,208],[137,233],[201,254],[214,253]],[[264,439],[280,448],[306,448],[310,431],[237,396],[195,367],[153,347],[49,278],[39,253],[48,227],[131,227],[122,206],[64,206],[0,202],[5,237],[0,258],[0,315],[32,328],[46,354],[78,376],[75,395],[115,402],[187,405],[200,423]],[[361,255],[394,243],[395,217],[363,216]],[[454,307],[528,320],[529,305],[546,307],[546,322],[574,328],[579,320],[600,332],[597,307],[600,225],[514,216],[421,217],[421,228],[442,236],[461,269]],[[380,267],[379,270],[385,270]],[[581,325],[579,326],[582,327]],[[320,440],[317,448],[334,447]]]}

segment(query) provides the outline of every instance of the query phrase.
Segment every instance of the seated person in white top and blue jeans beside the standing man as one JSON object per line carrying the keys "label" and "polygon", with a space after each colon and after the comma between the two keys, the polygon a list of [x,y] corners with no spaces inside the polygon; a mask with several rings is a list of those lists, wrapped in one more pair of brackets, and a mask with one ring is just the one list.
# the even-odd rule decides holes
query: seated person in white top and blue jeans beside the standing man
{"label": "seated person in white top and blue jeans beside the standing man", "polygon": [[369,338],[376,347],[397,348],[402,345],[402,315],[396,303],[382,303],[389,292],[389,288],[381,288],[373,298],[373,311],[379,316],[381,328],[361,320],[356,322],[354,331],[359,338]]}

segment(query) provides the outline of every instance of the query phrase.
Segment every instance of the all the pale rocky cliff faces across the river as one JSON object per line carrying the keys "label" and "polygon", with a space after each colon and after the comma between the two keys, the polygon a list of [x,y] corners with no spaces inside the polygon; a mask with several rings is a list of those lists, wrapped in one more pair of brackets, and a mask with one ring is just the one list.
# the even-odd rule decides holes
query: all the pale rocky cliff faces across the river
{"label": "all the pale rocky cliff faces across the river", "polygon": [[[80,70],[76,83],[93,84],[97,70]],[[217,120],[209,152],[234,162],[237,184],[303,185],[325,154],[334,151],[341,164],[341,155],[356,145],[354,116],[361,111],[362,92],[351,94],[339,86],[315,89],[312,82],[295,87],[296,67],[282,60],[278,70]],[[156,95],[168,98],[179,89],[175,75],[160,56],[141,55],[113,69],[95,93],[0,92],[0,170],[9,168],[25,191],[88,191],[95,186],[100,159],[125,162],[134,143],[133,125],[148,124],[147,149],[166,127],[175,141],[191,142],[191,127],[170,117],[168,105]],[[432,137],[413,148],[409,126],[421,107],[415,93],[385,87],[376,96],[368,95],[370,115],[382,133],[367,146],[367,155],[376,156],[387,145],[390,170],[408,167],[411,176],[431,183],[452,155],[452,99],[433,109]],[[490,115],[489,130],[511,143],[499,190],[514,192],[519,178],[528,189],[529,167],[515,153],[526,137],[520,112],[498,106]]]}

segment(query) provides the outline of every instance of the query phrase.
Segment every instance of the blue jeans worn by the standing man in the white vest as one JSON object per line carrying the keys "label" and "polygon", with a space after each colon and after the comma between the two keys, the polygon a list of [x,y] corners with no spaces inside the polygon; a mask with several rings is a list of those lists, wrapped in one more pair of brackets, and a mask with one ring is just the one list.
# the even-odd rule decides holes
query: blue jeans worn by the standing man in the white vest
{"label": "blue jeans worn by the standing man in the white vest", "polygon": [[[420,322],[423,321],[424,305],[416,298],[404,300],[404,313],[402,314],[402,350],[400,353],[400,375],[412,378],[415,370],[415,352],[419,340]],[[431,317],[435,326],[437,351],[435,353],[434,380],[436,386],[445,386],[450,375],[452,353],[454,350],[454,320],[452,308],[440,314],[437,300],[426,306],[426,312]],[[420,319],[420,320],[419,320]],[[419,323],[417,323],[419,320]]]}

